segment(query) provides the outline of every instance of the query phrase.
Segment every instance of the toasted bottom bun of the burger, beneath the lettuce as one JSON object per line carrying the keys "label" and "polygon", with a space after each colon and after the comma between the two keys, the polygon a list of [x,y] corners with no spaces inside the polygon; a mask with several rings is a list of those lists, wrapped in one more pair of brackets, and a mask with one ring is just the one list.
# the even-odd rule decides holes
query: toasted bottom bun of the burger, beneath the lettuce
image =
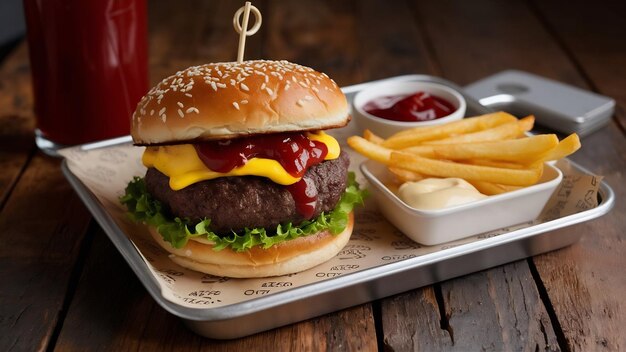
{"label": "toasted bottom bun of the burger, beneath the lettuce", "polygon": [[154,227],[150,227],[150,234],[182,267],[216,276],[252,278],[292,274],[328,261],[348,243],[353,226],[354,215],[350,213],[346,229],[338,235],[322,231],[268,249],[256,246],[244,252],[230,248],[214,251],[212,242],[200,238],[190,239],[179,249],[164,241]]}

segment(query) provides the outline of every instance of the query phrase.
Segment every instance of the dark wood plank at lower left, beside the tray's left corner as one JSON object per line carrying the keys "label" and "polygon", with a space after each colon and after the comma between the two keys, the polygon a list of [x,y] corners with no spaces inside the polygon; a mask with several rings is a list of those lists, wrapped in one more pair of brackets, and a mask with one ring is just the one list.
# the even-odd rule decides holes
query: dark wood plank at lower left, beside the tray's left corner
{"label": "dark wood plank at lower left, beside the tray's left corner", "polygon": [[0,213],[2,351],[46,349],[90,221],[59,164],[37,154]]}

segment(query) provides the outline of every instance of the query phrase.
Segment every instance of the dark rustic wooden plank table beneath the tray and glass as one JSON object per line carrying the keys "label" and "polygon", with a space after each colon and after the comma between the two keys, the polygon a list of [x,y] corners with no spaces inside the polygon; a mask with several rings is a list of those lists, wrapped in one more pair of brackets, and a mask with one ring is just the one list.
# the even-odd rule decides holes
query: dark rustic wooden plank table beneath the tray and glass
{"label": "dark rustic wooden plank table beneath the tray and glass", "polygon": [[[152,1],[152,82],[231,61],[233,1]],[[247,58],[287,59],[340,85],[408,73],[461,85],[521,69],[611,96],[611,123],[573,160],[614,210],[559,231],[558,251],[231,341],[191,333],[148,295],[34,146],[27,47],[0,63],[0,350],[626,349],[626,6],[600,1],[256,1]]]}

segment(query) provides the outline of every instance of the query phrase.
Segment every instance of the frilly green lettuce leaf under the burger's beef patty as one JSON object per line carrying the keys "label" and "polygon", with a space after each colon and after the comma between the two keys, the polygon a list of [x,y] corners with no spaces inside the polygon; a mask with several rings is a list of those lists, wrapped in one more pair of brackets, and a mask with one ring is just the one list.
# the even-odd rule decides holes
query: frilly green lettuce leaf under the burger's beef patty
{"label": "frilly green lettuce leaf under the burger's beef patty", "polygon": [[126,187],[126,194],[120,202],[128,208],[128,216],[136,222],[154,226],[163,239],[175,248],[182,248],[192,237],[204,237],[215,243],[216,251],[230,247],[243,252],[254,246],[269,248],[275,244],[292,240],[301,236],[311,235],[322,230],[332,234],[341,233],[348,225],[348,215],[357,204],[363,204],[366,191],[359,188],[353,172],[348,174],[348,187],[344,191],[335,209],[322,213],[315,219],[301,224],[285,223],[278,225],[275,231],[268,233],[264,228],[246,228],[242,233],[218,236],[211,231],[211,220],[205,219],[198,223],[190,219],[171,216],[163,204],[154,199],[146,189],[143,178],[135,177]]}

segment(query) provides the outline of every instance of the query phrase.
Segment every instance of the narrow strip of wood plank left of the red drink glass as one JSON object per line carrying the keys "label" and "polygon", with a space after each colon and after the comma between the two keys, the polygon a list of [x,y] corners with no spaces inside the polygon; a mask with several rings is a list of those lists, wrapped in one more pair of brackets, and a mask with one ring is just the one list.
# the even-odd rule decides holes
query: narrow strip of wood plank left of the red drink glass
{"label": "narrow strip of wood plank left of the red drink glass", "polygon": [[35,150],[33,99],[26,43],[0,66],[0,209]]}

